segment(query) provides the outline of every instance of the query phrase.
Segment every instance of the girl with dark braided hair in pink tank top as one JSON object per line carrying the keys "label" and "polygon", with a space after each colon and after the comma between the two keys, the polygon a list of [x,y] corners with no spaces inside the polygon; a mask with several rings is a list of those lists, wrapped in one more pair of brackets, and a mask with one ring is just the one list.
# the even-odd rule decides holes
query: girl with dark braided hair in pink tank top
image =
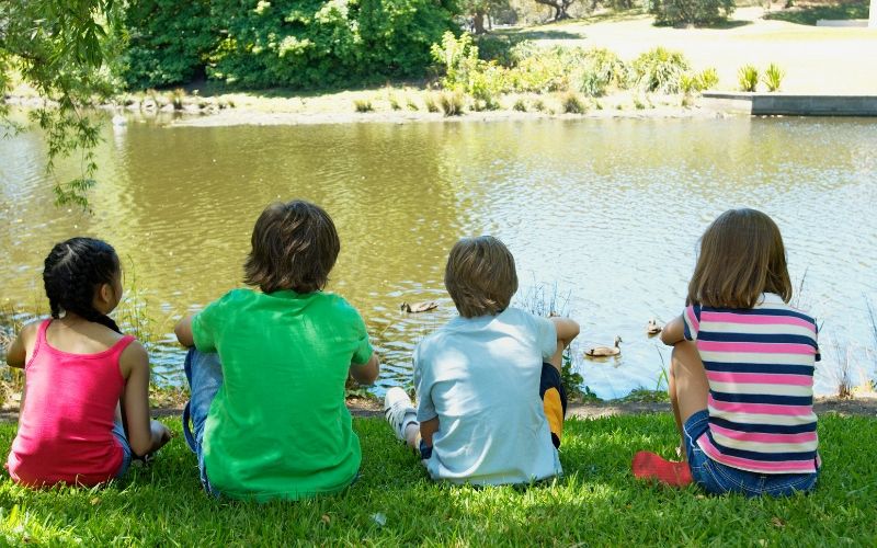
{"label": "girl with dark braided hair in pink tank top", "polygon": [[149,419],[146,350],[106,316],[122,299],[118,256],[72,238],[52,249],[43,282],[52,318],[25,326],[7,354],[25,375],[9,475],[31,487],[121,477],[170,432]]}

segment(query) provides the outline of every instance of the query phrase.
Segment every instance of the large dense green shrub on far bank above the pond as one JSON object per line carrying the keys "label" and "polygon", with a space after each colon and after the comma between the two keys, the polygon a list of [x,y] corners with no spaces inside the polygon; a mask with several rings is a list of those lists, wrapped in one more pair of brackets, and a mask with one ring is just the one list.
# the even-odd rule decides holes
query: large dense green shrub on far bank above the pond
{"label": "large dense green shrub on far bank above the pond", "polygon": [[423,76],[430,46],[454,27],[448,7],[432,0],[212,0],[209,5],[212,30],[221,42],[210,52],[208,76],[251,88]]}

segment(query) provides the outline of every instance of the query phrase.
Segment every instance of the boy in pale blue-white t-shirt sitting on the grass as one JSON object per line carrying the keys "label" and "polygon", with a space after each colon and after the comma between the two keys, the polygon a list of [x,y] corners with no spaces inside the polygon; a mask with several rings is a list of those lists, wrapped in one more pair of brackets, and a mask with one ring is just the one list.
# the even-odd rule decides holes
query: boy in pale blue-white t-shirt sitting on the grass
{"label": "boy in pale blue-white t-shirt sitting on the grass", "polygon": [[401,388],[387,391],[397,437],[420,450],[434,480],[527,483],[561,473],[561,354],[579,324],[509,308],[514,258],[490,236],[454,246],[445,287],[459,317],[414,350],[417,411]]}

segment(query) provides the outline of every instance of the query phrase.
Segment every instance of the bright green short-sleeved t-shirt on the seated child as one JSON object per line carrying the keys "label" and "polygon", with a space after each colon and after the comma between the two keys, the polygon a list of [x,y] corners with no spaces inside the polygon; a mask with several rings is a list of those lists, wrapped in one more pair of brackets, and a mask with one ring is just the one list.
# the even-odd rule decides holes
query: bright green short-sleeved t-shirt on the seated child
{"label": "bright green short-sleeved t-shirt on the seated child", "polygon": [[204,431],[216,490],[296,500],[353,481],[362,453],[344,383],[351,363],[372,357],[355,308],[321,292],[232,289],[195,316],[192,333],[197,350],[223,363]]}

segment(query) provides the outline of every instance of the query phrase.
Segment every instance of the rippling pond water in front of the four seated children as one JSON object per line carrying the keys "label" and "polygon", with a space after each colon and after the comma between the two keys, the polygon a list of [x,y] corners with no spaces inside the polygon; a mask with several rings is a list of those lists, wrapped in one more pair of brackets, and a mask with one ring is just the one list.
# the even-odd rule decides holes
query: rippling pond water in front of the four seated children
{"label": "rippling pond water in front of the four seated children", "polygon": [[[377,393],[411,381],[411,350],[455,312],[442,277],[460,236],[515,256],[519,299],[553,295],[582,326],[585,384],[604,398],[663,387],[669,352],[645,332],[684,304],[697,239],[718,214],[755,207],[779,225],[800,304],[822,322],[817,389],[840,363],[874,377],[877,128],[865,119],[617,119],[105,128],[92,216],[53,205],[36,133],[0,140],[0,305],[45,311],[42,260],[75,235],[109,240],[128,310],[160,334],[156,370],[182,378],[173,321],[240,285],[252,225],[300,197],[334,218],[330,288],[356,306],[380,352]],[[76,173],[61,167],[59,176]],[[136,295],[132,296],[133,293]],[[136,297],[136,298],[135,298]],[[407,300],[440,309],[405,316]],[[129,312],[128,312],[129,315]],[[611,344],[622,354],[581,359]]]}

